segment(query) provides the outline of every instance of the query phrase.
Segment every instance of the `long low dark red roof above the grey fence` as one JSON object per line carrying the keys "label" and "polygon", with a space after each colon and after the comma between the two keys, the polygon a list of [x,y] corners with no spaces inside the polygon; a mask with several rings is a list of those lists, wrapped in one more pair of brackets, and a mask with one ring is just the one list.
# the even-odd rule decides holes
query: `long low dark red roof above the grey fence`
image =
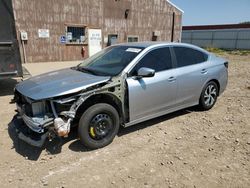
{"label": "long low dark red roof above the grey fence", "polygon": [[246,29],[250,28],[250,24],[223,24],[223,25],[194,25],[183,26],[182,30],[219,30],[219,29]]}

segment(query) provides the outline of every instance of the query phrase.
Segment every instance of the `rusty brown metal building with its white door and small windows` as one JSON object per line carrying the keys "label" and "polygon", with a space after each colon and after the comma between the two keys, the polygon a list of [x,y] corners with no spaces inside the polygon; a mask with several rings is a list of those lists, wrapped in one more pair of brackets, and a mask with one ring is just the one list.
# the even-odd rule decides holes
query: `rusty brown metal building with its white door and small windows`
{"label": "rusty brown metal building with its white door and small windows", "polygon": [[167,0],[4,1],[12,1],[28,63],[80,60],[115,43],[181,38],[183,11]]}

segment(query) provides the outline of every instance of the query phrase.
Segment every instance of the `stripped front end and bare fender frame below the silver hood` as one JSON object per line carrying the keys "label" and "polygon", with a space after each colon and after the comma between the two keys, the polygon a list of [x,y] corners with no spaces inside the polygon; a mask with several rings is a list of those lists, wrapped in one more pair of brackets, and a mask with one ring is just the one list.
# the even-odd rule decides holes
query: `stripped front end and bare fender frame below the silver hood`
{"label": "stripped front end and bare fender frame below the silver hood", "polygon": [[121,81],[115,79],[73,94],[42,100],[33,100],[16,89],[14,100],[18,112],[18,137],[35,147],[42,147],[47,139],[67,137],[72,125],[78,123],[78,109],[87,99],[98,94],[112,93],[121,100],[121,92]]}

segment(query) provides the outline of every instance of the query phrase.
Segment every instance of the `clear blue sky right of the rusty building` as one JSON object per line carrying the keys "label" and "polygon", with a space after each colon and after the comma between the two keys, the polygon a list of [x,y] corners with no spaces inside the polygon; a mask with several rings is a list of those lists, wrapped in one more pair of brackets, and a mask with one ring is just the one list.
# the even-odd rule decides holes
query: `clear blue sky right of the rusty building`
{"label": "clear blue sky right of the rusty building", "polygon": [[184,10],[183,25],[250,21],[250,0],[170,0]]}

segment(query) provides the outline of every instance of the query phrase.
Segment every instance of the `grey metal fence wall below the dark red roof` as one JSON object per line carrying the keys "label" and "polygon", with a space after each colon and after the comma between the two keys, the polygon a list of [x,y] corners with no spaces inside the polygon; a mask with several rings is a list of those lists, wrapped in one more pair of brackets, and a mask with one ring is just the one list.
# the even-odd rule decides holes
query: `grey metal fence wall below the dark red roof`
{"label": "grey metal fence wall below the dark red roof", "polygon": [[182,31],[182,42],[200,47],[250,49],[250,29]]}

